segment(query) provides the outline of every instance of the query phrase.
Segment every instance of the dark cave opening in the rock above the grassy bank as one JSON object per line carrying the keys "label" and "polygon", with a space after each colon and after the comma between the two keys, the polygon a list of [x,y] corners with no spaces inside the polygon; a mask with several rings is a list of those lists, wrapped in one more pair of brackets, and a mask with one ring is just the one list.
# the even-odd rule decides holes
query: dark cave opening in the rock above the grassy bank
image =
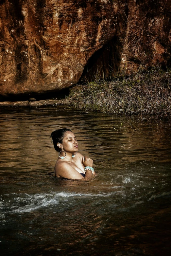
{"label": "dark cave opening in the rock above the grassy bank", "polygon": [[112,79],[119,71],[121,50],[121,42],[114,36],[88,60],[79,83],[91,82],[95,79]]}

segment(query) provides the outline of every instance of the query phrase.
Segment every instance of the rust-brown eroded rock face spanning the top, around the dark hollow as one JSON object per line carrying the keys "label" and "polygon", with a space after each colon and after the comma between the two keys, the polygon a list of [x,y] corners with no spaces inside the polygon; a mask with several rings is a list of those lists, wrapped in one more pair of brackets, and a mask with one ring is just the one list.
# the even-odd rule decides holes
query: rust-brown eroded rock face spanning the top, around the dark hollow
{"label": "rust-brown eroded rock face spanning the top, around the dark hollow", "polygon": [[69,87],[99,49],[91,65],[106,75],[167,63],[170,11],[170,0],[1,0],[0,94]]}

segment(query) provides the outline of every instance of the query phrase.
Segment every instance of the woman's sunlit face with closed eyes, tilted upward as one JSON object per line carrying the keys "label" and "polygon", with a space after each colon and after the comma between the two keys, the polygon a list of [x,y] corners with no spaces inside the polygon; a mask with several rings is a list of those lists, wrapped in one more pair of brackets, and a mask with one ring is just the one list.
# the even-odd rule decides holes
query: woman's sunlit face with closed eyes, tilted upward
{"label": "woman's sunlit face with closed eyes, tilted upward", "polygon": [[77,152],[78,151],[78,142],[74,133],[67,131],[61,143],[63,150],[66,152]]}

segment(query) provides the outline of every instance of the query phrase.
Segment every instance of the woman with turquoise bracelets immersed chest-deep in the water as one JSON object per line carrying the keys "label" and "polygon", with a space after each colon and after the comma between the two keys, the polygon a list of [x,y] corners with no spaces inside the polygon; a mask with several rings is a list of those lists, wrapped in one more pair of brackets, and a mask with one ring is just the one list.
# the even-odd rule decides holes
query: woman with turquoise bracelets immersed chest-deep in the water
{"label": "woman with turquoise bracelets immersed chest-deep in the water", "polygon": [[78,142],[69,129],[52,132],[54,148],[59,152],[55,176],[67,179],[88,179],[95,175],[93,160],[78,153]]}

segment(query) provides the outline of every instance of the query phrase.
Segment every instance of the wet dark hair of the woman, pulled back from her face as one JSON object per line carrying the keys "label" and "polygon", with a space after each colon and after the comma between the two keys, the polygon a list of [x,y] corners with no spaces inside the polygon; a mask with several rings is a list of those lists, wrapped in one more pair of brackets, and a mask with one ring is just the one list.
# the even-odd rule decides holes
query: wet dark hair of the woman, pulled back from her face
{"label": "wet dark hair of the woman, pulled back from her face", "polygon": [[54,132],[51,133],[50,138],[52,138],[54,148],[58,152],[60,152],[61,149],[57,146],[57,143],[58,142],[62,143],[62,140],[63,140],[63,138],[65,136],[65,133],[67,131],[72,132],[70,129],[62,128],[62,129],[59,129],[59,130],[55,130]]}

